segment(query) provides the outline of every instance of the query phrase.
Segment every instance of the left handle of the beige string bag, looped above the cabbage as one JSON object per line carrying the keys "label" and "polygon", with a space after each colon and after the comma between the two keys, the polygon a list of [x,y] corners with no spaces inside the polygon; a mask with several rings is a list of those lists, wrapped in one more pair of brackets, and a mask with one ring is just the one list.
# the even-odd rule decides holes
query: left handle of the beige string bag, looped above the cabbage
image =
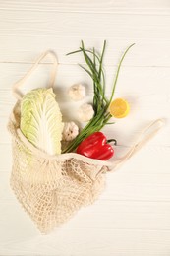
{"label": "left handle of the beige string bag, looped above the cabbage", "polygon": [[36,59],[35,63],[29,68],[28,72],[26,73],[26,75],[20,79],[19,81],[17,81],[13,87],[12,87],[12,92],[13,95],[21,100],[22,97],[24,96],[20,91],[19,88],[21,86],[23,86],[23,84],[25,83],[25,81],[28,79],[28,77],[32,74],[32,72],[37,68],[38,64],[41,63],[41,61],[47,56],[49,55],[49,57],[51,57],[53,63],[52,63],[52,69],[51,69],[51,73],[50,73],[50,79],[47,85],[47,88],[51,88],[54,86],[54,82],[55,82],[55,77],[56,77],[56,72],[57,72],[57,67],[58,67],[58,60],[57,60],[57,56],[56,54],[51,51],[51,50],[47,50],[45,52],[43,52],[42,54],[39,55],[39,57]]}

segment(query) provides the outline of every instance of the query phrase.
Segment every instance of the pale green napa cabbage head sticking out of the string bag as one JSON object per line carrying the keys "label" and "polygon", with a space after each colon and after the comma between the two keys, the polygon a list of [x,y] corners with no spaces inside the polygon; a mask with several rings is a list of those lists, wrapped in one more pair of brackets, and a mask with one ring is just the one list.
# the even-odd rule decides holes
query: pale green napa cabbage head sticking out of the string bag
{"label": "pale green napa cabbage head sticking out of the string bag", "polygon": [[38,149],[61,153],[62,115],[52,89],[36,89],[21,102],[21,131]]}

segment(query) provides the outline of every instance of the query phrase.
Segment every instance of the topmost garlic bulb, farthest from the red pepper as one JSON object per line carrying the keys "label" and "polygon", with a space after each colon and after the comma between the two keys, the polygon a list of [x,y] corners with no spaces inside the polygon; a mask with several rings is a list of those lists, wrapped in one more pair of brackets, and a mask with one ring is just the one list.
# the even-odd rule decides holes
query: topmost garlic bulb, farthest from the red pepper
{"label": "topmost garlic bulb, farthest from the red pepper", "polygon": [[70,87],[68,94],[74,101],[82,100],[85,98],[85,87],[82,84],[75,84]]}

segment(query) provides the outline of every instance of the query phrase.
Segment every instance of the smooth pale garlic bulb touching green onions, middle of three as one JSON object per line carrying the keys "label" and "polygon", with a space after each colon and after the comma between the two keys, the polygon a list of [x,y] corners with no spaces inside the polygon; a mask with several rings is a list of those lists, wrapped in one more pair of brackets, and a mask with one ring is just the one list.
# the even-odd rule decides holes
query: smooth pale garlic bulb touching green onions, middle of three
{"label": "smooth pale garlic bulb touching green onions, middle of three", "polygon": [[90,104],[83,104],[78,110],[78,117],[82,122],[88,122],[92,119],[93,115],[94,110]]}

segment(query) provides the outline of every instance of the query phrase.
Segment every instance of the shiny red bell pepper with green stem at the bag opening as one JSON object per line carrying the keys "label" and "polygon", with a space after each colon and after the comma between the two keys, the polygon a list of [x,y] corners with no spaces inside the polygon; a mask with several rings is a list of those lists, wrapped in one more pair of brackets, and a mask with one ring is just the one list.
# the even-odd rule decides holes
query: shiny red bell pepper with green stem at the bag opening
{"label": "shiny red bell pepper with green stem at the bag opening", "polygon": [[101,132],[95,132],[88,136],[77,148],[77,153],[84,155],[90,159],[109,160],[114,155],[114,150],[107,142],[116,140],[108,140]]}

